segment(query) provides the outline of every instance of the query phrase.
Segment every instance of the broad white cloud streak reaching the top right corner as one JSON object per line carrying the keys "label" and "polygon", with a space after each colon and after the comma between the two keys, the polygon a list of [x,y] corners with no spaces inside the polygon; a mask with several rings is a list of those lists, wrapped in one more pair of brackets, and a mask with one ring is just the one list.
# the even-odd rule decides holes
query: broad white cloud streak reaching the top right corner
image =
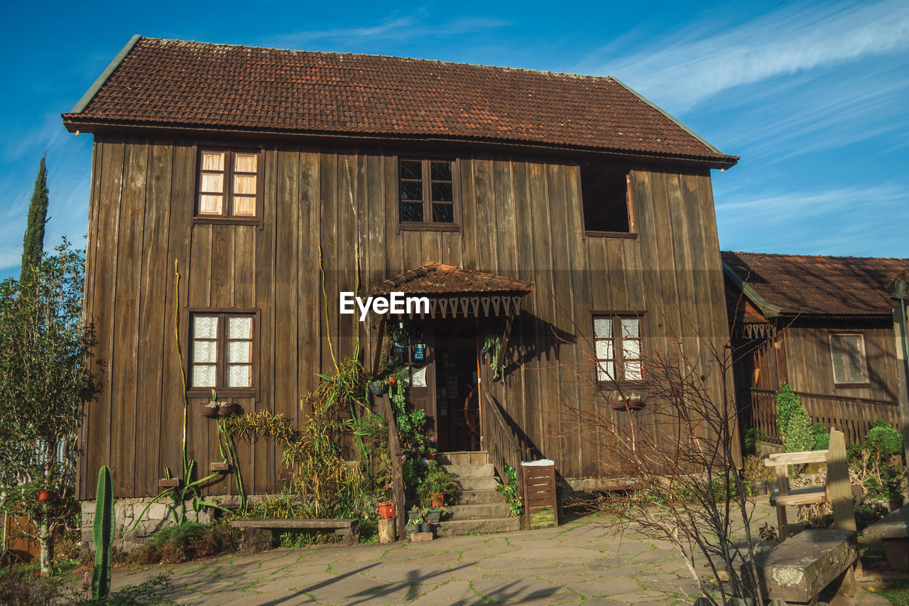
{"label": "broad white cloud streak reaching the top right corner", "polygon": [[626,45],[604,48],[604,75],[654,94],[673,112],[698,106],[736,86],[835,66],[909,48],[909,4],[904,0],[794,5],[716,31],[716,18],[674,35],[654,36],[630,56]]}

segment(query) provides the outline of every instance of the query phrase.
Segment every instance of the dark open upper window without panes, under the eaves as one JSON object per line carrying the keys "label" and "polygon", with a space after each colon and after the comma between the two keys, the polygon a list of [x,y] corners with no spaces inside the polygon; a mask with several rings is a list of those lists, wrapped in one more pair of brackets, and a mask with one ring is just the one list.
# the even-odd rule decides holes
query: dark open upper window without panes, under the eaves
{"label": "dark open upper window without panes, under the eaves", "polygon": [[630,237],[636,233],[628,171],[601,165],[582,166],[581,199],[587,236]]}

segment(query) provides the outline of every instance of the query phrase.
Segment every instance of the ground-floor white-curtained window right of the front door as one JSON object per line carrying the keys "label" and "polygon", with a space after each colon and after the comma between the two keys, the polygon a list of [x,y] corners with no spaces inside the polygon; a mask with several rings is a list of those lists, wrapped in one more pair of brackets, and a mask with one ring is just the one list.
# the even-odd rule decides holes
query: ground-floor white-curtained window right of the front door
{"label": "ground-floor white-curtained window right of the front door", "polygon": [[641,319],[632,316],[594,316],[596,380],[641,381]]}

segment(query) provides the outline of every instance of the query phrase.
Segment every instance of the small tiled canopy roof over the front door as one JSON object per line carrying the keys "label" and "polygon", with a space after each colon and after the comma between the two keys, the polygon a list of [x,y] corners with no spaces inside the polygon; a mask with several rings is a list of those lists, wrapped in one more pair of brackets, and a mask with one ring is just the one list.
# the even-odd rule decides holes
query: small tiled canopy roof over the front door
{"label": "small tiled canopy roof over the front door", "polygon": [[533,282],[433,261],[375,284],[369,288],[369,294],[386,295],[392,291],[420,295],[495,292],[527,294],[533,290]]}

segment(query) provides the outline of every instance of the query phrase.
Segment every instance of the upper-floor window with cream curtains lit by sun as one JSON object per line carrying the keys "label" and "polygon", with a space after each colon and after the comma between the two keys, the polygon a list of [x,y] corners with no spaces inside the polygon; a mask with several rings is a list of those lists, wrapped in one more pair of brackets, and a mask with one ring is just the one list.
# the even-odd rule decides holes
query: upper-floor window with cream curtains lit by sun
{"label": "upper-floor window with cream curtains lit by sun", "polygon": [[195,216],[257,220],[259,152],[253,149],[199,149]]}

